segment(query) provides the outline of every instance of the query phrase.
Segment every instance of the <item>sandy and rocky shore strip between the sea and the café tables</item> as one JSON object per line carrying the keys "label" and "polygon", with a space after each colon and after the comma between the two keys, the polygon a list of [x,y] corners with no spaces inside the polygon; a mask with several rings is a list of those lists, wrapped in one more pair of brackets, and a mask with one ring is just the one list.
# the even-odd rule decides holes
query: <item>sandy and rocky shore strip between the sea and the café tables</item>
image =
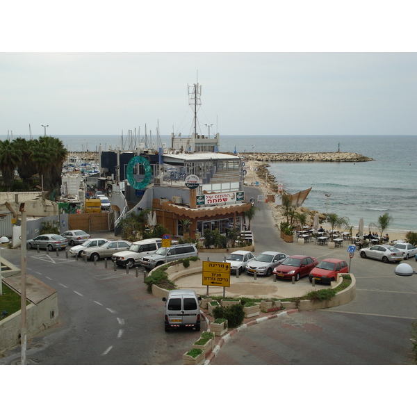
{"label": "sandy and rocky shore strip between the sea and the caf\u00e9 tables", "polygon": [[[248,183],[250,181],[251,182],[252,181],[253,182],[258,181],[259,182],[259,188],[261,189],[263,195],[266,195],[267,190],[271,190],[271,193],[268,193],[268,195],[277,194],[278,186],[277,186],[277,183],[275,182],[275,177],[272,174],[269,174],[269,171],[268,171],[268,166],[269,165],[268,165],[268,163],[265,163],[263,161],[256,161],[256,160],[248,160],[248,161],[245,161],[245,163],[247,163],[247,167],[252,172],[252,174],[249,174],[249,173],[247,174],[247,177],[249,177],[249,178],[247,178]],[[252,170],[252,167],[258,167],[258,171],[256,172],[256,171]],[[261,172],[268,172],[268,184],[265,181],[265,175],[260,175]],[[285,221],[286,218],[284,217],[284,215],[282,215],[280,213],[278,204],[273,203],[273,202],[268,202],[267,204],[268,204],[268,206],[269,206],[269,208],[272,212],[272,217],[275,220],[275,227],[277,227],[279,229],[280,222]],[[325,215],[325,213],[320,213],[319,211],[309,210],[309,208],[305,207],[305,206],[300,206],[297,209],[297,211],[302,211],[304,213],[313,213],[313,215],[314,215],[314,213],[318,213],[319,216],[320,215]],[[311,218],[307,221],[307,224],[310,224],[312,222],[313,222],[313,219]],[[325,222],[320,222],[320,224],[324,225],[326,223]],[[329,224],[329,227],[331,227],[330,224]],[[340,231],[343,230],[343,229],[340,229],[340,228],[337,228],[337,227],[336,227],[336,229],[338,229]],[[357,231],[358,231],[358,226],[354,226],[353,229],[352,229],[352,234],[356,235]],[[363,231],[366,233],[368,231],[368,227],[364,226]],[[371,231],[374,231],[374,232],[376,231],[376,232],[379,233],[379,231],[376,228],[371,229]],[[405,235],[407,234],[407,231],[401,231],[401,230],[398,230],[398,229],[386,229],[384,231],[384,234],[386,234],[386,233],[389,234],[389,241],[391,242],[392,240],[406,240]]]}

